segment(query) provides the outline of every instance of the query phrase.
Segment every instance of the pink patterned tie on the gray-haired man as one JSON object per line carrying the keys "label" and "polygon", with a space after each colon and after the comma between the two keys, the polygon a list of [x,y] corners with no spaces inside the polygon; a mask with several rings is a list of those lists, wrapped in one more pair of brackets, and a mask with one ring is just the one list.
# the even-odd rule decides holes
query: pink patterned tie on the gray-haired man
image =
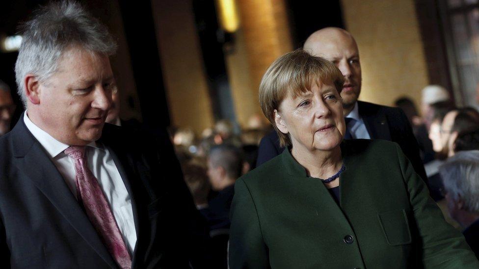
{"label": "pink patterned tie on the gray-haired man", "polygon": [[85,147],[71,146],[65,149],[65,153],[74,160],[77,173],[77,193],[81,196],[86,215],[103,238],[106,248],[120,268],[131,269],[132,258],[123,241],[120,229],[97,179],[87,167]]}

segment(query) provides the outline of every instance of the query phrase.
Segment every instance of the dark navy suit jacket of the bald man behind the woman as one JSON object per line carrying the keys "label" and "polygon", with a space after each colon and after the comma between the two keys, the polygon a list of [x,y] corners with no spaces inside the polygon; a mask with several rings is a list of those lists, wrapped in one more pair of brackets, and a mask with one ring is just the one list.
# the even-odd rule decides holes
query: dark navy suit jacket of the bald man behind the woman
{"label": "dark navy suit jacket of the bald man behind the woman", "polygon": [[[412,132],[411,124],[400,108],[358,101],[359,115],[372,139],[384,139],[399,144],[411,161],[414,170],[427,180],[426,171],[419,155],[419,146]],[[275,131],[266,135],[260,143],[257,166],[283,152]]]}

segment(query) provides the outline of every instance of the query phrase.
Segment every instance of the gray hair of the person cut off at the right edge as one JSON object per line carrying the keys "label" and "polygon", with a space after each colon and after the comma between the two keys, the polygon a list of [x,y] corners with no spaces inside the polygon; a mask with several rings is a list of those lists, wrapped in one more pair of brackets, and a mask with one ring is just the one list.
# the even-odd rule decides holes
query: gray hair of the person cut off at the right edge
{"label": "gray hair of the person cut off at the right edge", "polygon": [[459,151],[439,167],[446,192],[464,209],[479,212],[479,150]]}

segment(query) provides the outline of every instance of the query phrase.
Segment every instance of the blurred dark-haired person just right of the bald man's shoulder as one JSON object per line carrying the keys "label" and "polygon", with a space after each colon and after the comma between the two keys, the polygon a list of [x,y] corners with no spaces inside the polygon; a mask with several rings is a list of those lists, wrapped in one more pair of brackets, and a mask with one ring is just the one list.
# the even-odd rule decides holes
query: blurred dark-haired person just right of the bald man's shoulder
{"label": "blurred dark-haired person just right of the bald man's shoulder", "polygon": [[407,97],[398,98],[395,105],[402,109],[406,115],[409,123],[412,126],[412,131],[419,144],[421,159],[424,164],[434,160],[434,150],[432,149],[432,142],[428,137],[426,125],[414,105],[414,102]]}

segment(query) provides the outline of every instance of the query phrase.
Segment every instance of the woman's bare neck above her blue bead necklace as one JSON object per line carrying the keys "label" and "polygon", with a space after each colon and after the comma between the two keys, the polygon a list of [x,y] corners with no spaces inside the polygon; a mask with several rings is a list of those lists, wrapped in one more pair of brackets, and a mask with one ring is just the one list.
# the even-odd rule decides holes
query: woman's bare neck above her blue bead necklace
{"label": "woman's bare neck above her blue bead necklace", "polygon": [[326,179],[336,174],[343,165],[341,147],[338,145],[333,150],[301,150],[293,147],[291,155],[303,166],[311,177]]}

